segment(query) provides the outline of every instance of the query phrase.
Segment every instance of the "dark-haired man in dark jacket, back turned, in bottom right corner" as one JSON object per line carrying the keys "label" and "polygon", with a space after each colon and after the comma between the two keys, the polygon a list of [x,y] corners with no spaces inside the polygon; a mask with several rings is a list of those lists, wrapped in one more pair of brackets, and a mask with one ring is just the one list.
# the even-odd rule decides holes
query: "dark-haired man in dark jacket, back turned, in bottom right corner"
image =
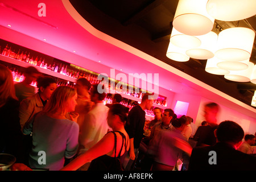
{"label": "dark-haired man in dark jacket, back turned, in bottom right corner", "polygon": [[256,170],[255,156],[237,150],[244,135],[240,125],[233,121],[221,122],[214,135],[217,138],[214,146],[193,148],[189,171]]}

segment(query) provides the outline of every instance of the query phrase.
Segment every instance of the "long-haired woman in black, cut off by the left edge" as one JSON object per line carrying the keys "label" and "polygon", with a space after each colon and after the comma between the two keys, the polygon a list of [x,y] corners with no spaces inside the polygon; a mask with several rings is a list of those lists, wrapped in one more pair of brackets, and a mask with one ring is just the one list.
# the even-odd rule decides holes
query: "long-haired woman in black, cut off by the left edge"
{"label": "long-haired woman in black, cut off by the left edge", "polygon": [[19,102],[15,96],[13,75],[0,64],[0,153],[22,160],[22,132],[19,125]]}

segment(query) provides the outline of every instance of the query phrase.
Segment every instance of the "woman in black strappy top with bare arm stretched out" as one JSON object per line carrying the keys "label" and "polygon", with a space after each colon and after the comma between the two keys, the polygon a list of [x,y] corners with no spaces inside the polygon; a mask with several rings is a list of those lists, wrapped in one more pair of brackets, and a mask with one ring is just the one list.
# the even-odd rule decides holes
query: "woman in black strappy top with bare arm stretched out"
{"label": "woman in black strappy top with bare arm stretched out", "polygon": [[75,171],[92,160],[88,171],[120,170],[116,159],[121,163],[129,151],[129,135],[125,131],[127,111],[121,104],[113,104],[108,114],[108,124],[113,131],[107,133],[98,143],[72,160],[61,171]]}

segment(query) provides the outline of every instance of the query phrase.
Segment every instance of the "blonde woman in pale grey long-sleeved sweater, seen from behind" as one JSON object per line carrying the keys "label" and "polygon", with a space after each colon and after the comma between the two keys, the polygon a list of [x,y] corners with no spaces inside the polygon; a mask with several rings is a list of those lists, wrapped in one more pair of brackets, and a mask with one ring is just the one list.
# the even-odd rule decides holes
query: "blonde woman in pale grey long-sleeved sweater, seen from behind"
{"label": "blonde woman in pale grey long-sleeved sweater, seen from behind", "polygon": [[79,137],[78,115],[75,118],[71,115],[72,121],[66,116],[75,111],[76,99],[75,89],[59,86],[44,109],[26,123],[23,134],[32,133],[32,150],[28,159],[30,168],[57,171],[63,168],[65,158],[75,156]]}

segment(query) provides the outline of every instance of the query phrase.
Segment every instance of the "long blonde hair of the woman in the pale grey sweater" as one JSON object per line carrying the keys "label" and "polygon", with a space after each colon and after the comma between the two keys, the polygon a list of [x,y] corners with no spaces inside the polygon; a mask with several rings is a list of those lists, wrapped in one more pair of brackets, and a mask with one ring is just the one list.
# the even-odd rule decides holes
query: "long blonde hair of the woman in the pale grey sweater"
{"label": "long blonde hair of the woman in the pale grey sweater", "polygon": [[57,110],[64,111],[69,98],[75,96],[76,90],[70,86],[58,86],[52,93],[49,101],[42,110],[43,113],[56,113]]}

